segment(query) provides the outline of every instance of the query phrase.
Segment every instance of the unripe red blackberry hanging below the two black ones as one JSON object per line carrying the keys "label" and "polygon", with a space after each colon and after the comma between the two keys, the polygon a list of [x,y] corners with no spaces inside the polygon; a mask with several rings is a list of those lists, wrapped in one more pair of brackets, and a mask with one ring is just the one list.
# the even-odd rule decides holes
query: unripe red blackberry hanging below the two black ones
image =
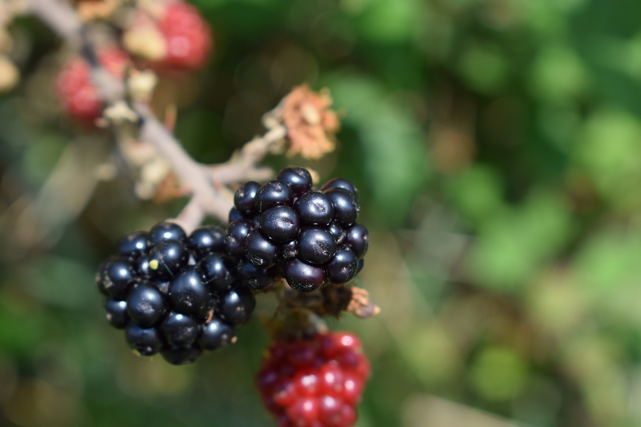
{"label": "unripe red blackberry hanging below the two black ones", "polygon": [[325,333],[272,344],[256,387],[281,427],[348,427],[358,418],[369,374],[358,338]]}

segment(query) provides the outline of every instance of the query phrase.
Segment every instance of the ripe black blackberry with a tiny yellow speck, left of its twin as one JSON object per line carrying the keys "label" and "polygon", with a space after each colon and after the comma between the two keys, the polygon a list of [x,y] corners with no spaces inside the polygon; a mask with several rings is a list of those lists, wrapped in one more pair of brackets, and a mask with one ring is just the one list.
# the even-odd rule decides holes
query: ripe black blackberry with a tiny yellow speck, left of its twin
{"label": "ripe black blackberry with a tiny yellow speck, left of its twin", "polygon": [[160,222],[119,240],[119,255],[101,265],[96,281],[107,321],[124,329],[131,349],[179,365],[235,342],[256,301],[224,239],[215,226],[187,236],[178,224]]}

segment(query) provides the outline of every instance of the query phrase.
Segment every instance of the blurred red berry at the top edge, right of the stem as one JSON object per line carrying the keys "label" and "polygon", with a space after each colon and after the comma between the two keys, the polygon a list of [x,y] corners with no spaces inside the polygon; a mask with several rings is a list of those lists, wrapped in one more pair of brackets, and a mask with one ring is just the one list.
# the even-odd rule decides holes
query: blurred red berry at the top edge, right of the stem
{"label": "blurred red berry at the top edge, right of the stem", "polygon": [[196,71],[203,67],[212,50],[212,33],[194,6],[182,1],[167,4],[158,30],[167,43],[167,54],[156,63],[158,68]]}

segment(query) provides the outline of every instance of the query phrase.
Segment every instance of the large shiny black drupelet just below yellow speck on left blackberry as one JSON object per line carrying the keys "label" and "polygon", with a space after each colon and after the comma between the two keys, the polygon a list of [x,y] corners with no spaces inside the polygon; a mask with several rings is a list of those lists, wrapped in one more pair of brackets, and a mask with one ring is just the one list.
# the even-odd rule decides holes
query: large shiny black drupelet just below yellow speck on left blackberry
{"label": "large shiny black drupelet just below yellow speck on left blackberry", "polygon": [[127,314],[143,328],[153,326],[166,309],[165,296],[148,280],[138,283],[127,297]]}

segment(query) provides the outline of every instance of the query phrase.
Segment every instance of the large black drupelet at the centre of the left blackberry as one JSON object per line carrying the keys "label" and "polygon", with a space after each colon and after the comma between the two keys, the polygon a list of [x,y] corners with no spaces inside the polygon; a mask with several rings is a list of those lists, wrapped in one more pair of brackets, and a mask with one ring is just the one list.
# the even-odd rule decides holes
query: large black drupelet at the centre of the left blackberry
{"label": "large black drupelet at the centre of the left blackberry", "polygon": [[196,267],[185,267],[169,283],[169,301],[174,310],[181,313],[196,313],[202,310],[209,299],[209,291],[203,282],[203,276]]}

